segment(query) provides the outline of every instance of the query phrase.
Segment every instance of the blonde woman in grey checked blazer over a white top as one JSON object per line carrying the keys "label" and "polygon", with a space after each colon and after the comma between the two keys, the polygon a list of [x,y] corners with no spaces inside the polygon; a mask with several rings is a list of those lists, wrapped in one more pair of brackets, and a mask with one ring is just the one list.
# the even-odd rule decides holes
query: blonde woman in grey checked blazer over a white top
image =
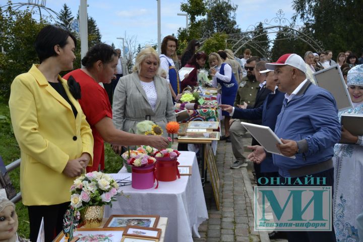
{"label": "blonde woman in grey checked blazer over a white top", "polygon": [[137,123],[150,115],[151,120],[167,133],[165,126],[175,121],[169,85],[157,76],[160,58],[151,48],[145,48],[136,56],[134,73],[119,79],[113,94],[113,124],[119,130],[136,131]]}

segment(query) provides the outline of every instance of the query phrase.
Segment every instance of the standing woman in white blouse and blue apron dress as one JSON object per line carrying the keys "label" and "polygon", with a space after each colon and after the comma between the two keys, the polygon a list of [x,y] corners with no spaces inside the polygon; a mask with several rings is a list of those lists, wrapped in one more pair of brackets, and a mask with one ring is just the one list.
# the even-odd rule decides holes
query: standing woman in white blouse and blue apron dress
{"label": "standing woman in white blouse and blue apron dress", "polygon": [[[214,52],[209,54],[209,66],[211,67],[210,74],[213,77],[213,87],[217,87],[218,83],[222,87],[221,104],[233,106],[238,85],[234,75],[232,75],[232,68],[228,64],[222,63],[222,59],[219,54]],[[224,116],[225,135],[221,137],[221,140],[227,140],[229,139],[230,116],[226,111],[222,111],[222,115]]]}

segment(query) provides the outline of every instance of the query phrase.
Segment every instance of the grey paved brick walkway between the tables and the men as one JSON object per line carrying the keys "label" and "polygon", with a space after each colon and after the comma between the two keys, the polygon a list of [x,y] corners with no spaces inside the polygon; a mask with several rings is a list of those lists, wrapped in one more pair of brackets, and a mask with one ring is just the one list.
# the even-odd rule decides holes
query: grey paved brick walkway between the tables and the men
{"label": "grey paved brick walkway between the tables and the men", "polygon": [[[244,145],[250,144],[251,136],[246,134]],[[247,156],[250,151],[247,149],[245,151]],[[248,167],[230,169],[232,161],[234,161],[234,157],[231,143],[218,142],[216,165],[220,178],[219,211],[215,205],[212,186],[210,183],[206,183],[204,196],[209,219],[199,226],[201,238],[194,238],[195,242],[270,241],[267,232],[254,231],[253,164],[249,162]]]}

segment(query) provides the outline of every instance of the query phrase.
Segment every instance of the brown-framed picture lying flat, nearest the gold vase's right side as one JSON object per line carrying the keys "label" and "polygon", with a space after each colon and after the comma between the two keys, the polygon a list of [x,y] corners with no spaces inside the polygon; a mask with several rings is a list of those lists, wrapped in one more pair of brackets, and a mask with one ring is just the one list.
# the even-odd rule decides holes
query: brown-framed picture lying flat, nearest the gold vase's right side
{"label": "brown-framed picture lying flat, nearest the gold vase's right side", "polygon": [[103,227],[125,229],[126,226],[139,226],[156,228],[159,219],[159,215],[111,215]]}

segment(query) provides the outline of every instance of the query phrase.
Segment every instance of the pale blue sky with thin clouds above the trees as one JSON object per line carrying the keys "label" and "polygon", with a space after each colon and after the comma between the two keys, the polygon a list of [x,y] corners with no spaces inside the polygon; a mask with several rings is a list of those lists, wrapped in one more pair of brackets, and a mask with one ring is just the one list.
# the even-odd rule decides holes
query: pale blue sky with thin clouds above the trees
{"label": "pale blue sky with thin clouds above the trees", "polygon": [[[186,0],[160,0],[161,5],[161,36],[176,34],[178,28],[185,28],[186,17],[177,16],[180,3]],[[0,5],[6,5],[8,0],[0,0]],[[27,0],[12,1],[27,3]],[[36,0],[33,0],[36,2]],[[39,1],[41,2],[41,1]],[[46,7],[55,12],[62,10],[67,4],[72,14],[77,15],[79,0],[47,0]],[[279,9],[290,20],[294,11],[291,0],[231,0],[238,6],[236,22],[241,30],[246,30],[250,25],[276,17]],[[122,41],[117,37],[135,36],[142,46],[157,43],[157,1],[156,0],[88,0],[88,15],[93,17],[100,29],[102,41],[116,47],[122,46]],[[43,11],[42,14],[46,12]]]}

